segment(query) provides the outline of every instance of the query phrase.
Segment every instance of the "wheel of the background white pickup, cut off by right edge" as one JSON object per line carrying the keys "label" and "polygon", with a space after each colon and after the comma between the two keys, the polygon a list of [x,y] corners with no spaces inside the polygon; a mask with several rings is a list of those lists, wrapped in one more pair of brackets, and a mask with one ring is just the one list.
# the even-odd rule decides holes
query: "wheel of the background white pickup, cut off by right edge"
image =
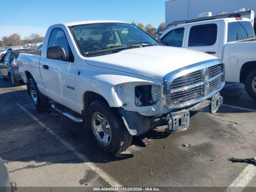
{"label": "wheel of the background white pickup, cut off by right edge", "polygon": [[246,92],[256,100],[256,69],[247,75],[244,85]]}

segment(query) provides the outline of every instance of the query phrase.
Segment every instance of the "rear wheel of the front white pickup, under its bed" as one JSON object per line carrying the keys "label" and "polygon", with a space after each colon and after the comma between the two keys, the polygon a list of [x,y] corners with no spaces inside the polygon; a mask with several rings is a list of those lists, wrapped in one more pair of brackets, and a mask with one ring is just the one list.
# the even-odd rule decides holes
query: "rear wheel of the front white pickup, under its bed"
{"label": "rear wheel of the front white pickup, under its bed", "polygon": [[44,109],[48,106],[49,98],[40,93],[36,82],[32,78],[28,81],[28,92],[36,108]]}

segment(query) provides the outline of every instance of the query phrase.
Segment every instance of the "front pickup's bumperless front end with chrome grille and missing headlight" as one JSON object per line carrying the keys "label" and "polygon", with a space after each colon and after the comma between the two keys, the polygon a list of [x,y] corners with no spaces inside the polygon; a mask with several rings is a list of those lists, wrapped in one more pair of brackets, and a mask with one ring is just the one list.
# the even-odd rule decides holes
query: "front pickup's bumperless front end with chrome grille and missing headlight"
{"label": "front pickup's bumperless front end with chrome grille and missing headlight", "polygon": [[119,85],[116,93],[123,103],[119,112],[132,135],[162,125],[168,125],[170,133],[184,131],[194,112],[207,106],[210,113],[218,110],[223,102],[219,92],[225,84],[224,74],[224,64],[214,59],[175,70],[164,76],[162,84]]}

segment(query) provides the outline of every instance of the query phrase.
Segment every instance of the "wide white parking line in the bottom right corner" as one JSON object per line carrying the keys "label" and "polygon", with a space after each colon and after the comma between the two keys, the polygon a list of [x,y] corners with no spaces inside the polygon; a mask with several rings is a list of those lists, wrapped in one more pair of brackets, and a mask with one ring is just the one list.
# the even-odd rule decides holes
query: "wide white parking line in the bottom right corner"
{"label": "wide white parking line in the bottom right corner", "polygon": [[[256,158],[256,157],[255,157]],[[248,164],[246,168],[238,175],[238,177],[230,184],[226,192],[242,192],[252,178],[256,175],[256,166]]]}

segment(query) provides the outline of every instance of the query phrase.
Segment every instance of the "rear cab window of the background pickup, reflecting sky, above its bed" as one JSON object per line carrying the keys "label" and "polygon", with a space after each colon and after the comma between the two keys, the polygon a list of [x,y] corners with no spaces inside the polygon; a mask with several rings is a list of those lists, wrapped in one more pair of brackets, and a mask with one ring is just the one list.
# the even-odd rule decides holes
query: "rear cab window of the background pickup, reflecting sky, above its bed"
{"label": "rear cab window of the background pickup, reflecting sky, above its bed", "polygon": [[254,38],[250,21],[231,22],[228,24],[228,42]]}

